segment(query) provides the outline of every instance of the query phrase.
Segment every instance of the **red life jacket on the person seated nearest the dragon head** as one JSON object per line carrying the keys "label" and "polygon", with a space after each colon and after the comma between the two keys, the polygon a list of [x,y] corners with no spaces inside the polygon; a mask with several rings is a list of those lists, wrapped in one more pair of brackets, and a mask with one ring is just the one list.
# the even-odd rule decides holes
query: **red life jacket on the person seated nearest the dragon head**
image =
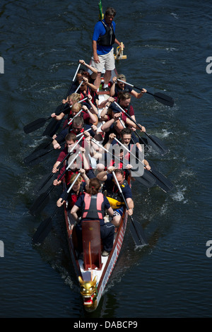
{"label": "red life jacket on the person seated nearest the dragon head", "polygon": [[98,193],[97,195],[89,195],[88,193],[85,193],[82,208],[83,219],[103,219],[104,211],[104,196],[102,193]]}

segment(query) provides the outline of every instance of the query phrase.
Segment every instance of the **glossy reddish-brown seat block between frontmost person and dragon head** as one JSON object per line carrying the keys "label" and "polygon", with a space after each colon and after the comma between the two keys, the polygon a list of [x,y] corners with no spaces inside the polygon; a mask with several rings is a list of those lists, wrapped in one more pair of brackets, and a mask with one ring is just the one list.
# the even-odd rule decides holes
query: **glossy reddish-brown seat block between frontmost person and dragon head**
{"label": "glossy reddish-brown seat block between frontmost person and dragon head", "polygon": [[102,268],[101,256],[101,237],[99,220],[83,220],[82,222],[83,237],[83,261],[84,268]]}

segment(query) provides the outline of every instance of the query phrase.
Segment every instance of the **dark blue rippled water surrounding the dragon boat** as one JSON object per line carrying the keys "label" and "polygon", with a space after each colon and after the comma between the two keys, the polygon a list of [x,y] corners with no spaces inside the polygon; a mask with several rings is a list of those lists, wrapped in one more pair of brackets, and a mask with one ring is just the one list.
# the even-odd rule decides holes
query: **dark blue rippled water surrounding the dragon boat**
{"label": "dark blue rippled water surrounding the dragon boat", "polygon": [[[1,317],[76,319],[211,317],[211,2],[121,1],[117,37],[127,59],[117,71],[127,81],[175,99],[165,107],[150,95],[133,100],[136,119],[163,139],[170,153],[146,158],[175,184],[170,194],[134,183],[134,218],[149,245],[136,250],[126,233],[105,295],[92,314],[83,311],[69,259],[64,215],[40,247],[31,237],[51,215],[59,191],[40,218],[28,213],[37,182],[57,153],[39,165],[23,163],[45,141],[23,126],[47,117],[66,95],[78,65],[91,56],[98,1],[1,1]],[[106,8],[106,1],[102,1]]]}

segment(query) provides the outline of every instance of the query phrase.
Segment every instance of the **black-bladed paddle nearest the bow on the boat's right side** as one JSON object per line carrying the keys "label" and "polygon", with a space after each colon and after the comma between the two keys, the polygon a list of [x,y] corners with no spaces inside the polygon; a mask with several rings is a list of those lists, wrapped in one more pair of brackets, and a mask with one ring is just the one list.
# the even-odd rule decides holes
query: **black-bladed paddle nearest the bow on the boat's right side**
{"label": "black-bladed paddle nearest the bow on the boat's right side", "polygon": [[[119,188],[119,192],[122,195],[124,204],[126,206],[126,210],[128,211],[129,210],[129,206],[126,203],[126,199],[124,197],[124,194],[123,194],[123,191],[121,189],[121,186],[119,185],[119,182],[117,180],[116,174],[114,172],[112,172],[112,175],[113,175],[114,180],[115,180],[115,182],[117,184],[117,187]],[[129,215],[129,218],[131,218],[131,225],[133,226],[133,229],[134,229],[131,232],[131,234],[133,236],[133,239],[134,239],[134,242],[135,242],[136,246],[138,246],[138,247],[145,246],[147,244],[147,242],[146,242],[146,237],[144,235],[142,227],[138,227],[138,225],[137,225],[137,223],[135,223],[134,218],[132,217],[132,215]]]}

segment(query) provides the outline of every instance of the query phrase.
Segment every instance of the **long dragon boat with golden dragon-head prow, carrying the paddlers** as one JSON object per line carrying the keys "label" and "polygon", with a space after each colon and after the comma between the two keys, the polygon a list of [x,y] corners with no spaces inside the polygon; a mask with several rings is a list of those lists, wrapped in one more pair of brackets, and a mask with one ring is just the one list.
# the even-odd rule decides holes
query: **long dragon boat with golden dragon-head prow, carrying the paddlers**
{"label": "long dragon boat with golden dragon-head prow, carrying the paddlers", "polygon": [[[117,74],[117,71],[114,71],[114,73]],[[100,102],[107,99],[109,94],[110,93],[104,91],[98,92]],[[101,111],[102,109],[99,109],[99,112]],[[130,176],[128,177],[128,183],[131,185]],[[65,186],[66,184],[64,182],[64,189]],[[67,208],[68,202],[64,204],[64,215],[71,261],[80,285],[83,307],[86,312],[93,312],[98,307],[102,293],[105,290],[122,248],[128,219],[126,206],[124,207],[124,213],[120,225],[114,232],[114,244],[109,256],[101,255],[102,243],[100,239],[100,221],[83,221],[83,259],[78,258],[76,230],[75,227],[71,229],[69,211]]]}

